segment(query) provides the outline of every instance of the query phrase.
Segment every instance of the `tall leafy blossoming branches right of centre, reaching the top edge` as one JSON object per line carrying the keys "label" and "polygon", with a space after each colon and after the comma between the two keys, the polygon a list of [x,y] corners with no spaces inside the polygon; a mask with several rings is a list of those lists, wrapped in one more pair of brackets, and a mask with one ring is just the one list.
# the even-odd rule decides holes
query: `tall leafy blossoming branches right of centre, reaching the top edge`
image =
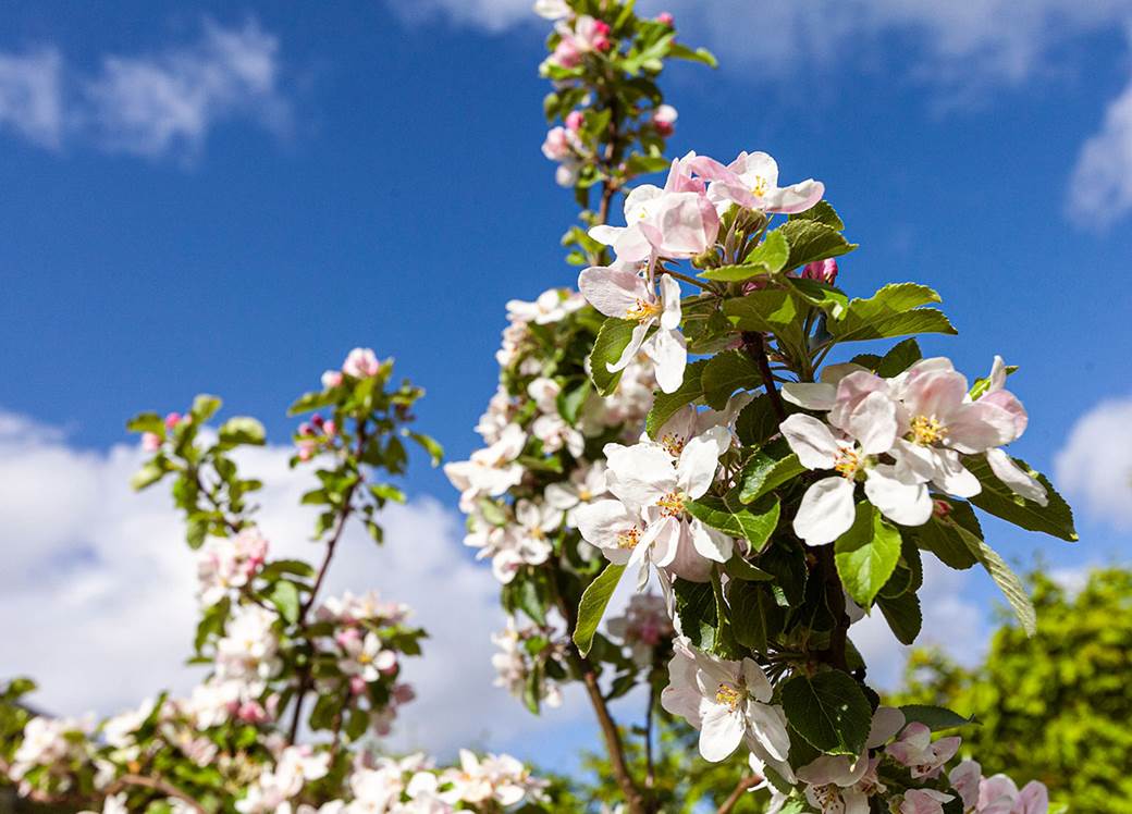
{"label": "tall leafy blossoming branches right of centre, reaching the top edge", "polygon": [[[581,682],[631,812],[658,809],[657,714],[698,729],[706,761],[748,755],[721,812],[756,788],[771,812],[1045,812],[1039,783],[949,768],[960,737],[934,734],[970,722],[881,705],[850,636],[881,614],[916,640],[924,552],[984,567],[1032,629],[976,509],[1077,534],[1046,478],[1004,448],[1027,427],[1014,368],[995,357],[972,382],[921,358],[915,335],[955,333],[925,285],[838,288],[856,246],[821,182],[781,183],[762,152],[663,157],[666,60],[713,63],[670,16],[535,9],[554,22],[541,71],[560,122],[543,153],[583,207],[563,240],[581,295],[508,305],[487,446],[447,466],[466,542],[513,614],[500,682],[532,709]],[[635,182],[658,170],[662,186]],[[637,593],[603,634],[623,577]],[[610,703],[638,684],[643,720],[618,722]],[[626,759],[634,734],[643,771]]]}

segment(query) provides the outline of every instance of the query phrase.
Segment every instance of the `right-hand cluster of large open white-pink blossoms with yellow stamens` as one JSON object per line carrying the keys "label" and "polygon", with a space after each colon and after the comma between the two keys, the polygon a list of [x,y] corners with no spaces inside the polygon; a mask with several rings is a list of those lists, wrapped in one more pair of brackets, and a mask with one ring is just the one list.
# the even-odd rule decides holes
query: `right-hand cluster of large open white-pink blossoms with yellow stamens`
{"label": "right-hand cluster of large open white-pink blossoms with yellow stamens", "polygon": [[814,384],[787,384],[783,397],[822,421],[798,413],[782,435],[801,465],[834,474],[814,482],[794,530],[811,546],[832,542],[852,525],[855,485],[889,520],[923,525],[934,504],[928,488],[968,498],[983,487],[964,455],[983,455],[1014,494],[1045,506],[1045,487],[1021,470],[1002,446],[1026,430],[1021,402],[1003,384],[995,357],[987,384],[972,397],[967,378],[944,358],[923,359],[890,379],[855,365],[831,365]]}

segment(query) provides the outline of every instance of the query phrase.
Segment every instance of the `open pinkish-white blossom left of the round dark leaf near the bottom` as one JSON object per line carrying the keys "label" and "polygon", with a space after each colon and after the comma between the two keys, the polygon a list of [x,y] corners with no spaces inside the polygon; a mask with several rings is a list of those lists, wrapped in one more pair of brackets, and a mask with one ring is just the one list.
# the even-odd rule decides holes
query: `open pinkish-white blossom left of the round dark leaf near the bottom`
{"label": "open pinkish-white blossom left of the round dark leaf near the bottom", "polygon": [[661,705],[700,730],[700,754],[719,762],[744,739],[757,743],[775,760],[790,749],[786,716],[771,704],[766,674],[751,659],[728,661],[677,639],[668,666]]}

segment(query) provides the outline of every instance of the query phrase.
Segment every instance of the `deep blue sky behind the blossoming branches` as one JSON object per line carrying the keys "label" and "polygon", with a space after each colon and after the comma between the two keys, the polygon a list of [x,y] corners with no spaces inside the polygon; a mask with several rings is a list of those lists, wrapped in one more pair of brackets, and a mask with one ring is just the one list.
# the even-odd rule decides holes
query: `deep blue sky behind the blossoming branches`
{"label": "deep blue sky behind the blossoming branches", "polygon": [[[926,350],[972,377],[995,352],[1021,366],[1031,464],[1116,411],[1065,453],[1097,507],[1082,541],[992,542],[1125,557],[1132,5],[670,6],[723,61],[666,75],[674,153],[765,149],[823,180],[861,245],[850,293],[927,283],[960,336]],[[0,6],[0,411],[102,455],[129,414],[208,391],[283,442],[289,400],[362,344],[466,456],[504,302],[576,279],[539,152],[542,36],[525,0]],[[1090,478],[1097,444],[1117,453]],[[436,471],[410,487],[455,506]],[[962,590],[987,603],[988,584]]]}

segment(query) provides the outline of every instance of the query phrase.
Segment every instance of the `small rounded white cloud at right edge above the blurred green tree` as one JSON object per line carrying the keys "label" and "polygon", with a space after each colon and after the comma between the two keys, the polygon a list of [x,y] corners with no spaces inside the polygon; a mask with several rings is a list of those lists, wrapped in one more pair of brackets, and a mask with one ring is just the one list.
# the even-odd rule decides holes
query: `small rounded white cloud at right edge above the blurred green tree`
{"label": "small rounded white cloud at right edge above the blurred green tree", "polygon": [[1103,401],[1057,453],[1057,483],[1092,519],[1132,529],[1132,396]]}

